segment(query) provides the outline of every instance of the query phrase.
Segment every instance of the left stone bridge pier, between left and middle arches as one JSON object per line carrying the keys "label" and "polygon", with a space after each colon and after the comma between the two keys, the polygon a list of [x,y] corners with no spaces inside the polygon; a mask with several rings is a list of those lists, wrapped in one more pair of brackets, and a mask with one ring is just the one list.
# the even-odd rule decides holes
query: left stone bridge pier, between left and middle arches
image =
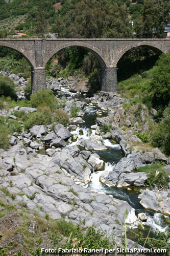
{"label": "left stone bridge pier, between left and middle arches", "polygon": [[38,67],[32,70],[31,86],[33,94],[35,94],[36,91],[41,90],[42,88],[46,88],[46,77],[44,67]]}

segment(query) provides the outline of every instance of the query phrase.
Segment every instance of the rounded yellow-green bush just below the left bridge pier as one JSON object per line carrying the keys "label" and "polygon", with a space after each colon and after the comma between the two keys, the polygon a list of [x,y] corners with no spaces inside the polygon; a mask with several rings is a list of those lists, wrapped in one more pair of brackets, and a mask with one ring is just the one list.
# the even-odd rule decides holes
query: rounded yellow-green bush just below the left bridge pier
{"label": "rounded yellow-green bush just below the left bridge pier", "polygon": [[58,102],[53,92],[44,88],[31,95],[30,104],[33,108],[48,106],[51,111],[58,108]]}

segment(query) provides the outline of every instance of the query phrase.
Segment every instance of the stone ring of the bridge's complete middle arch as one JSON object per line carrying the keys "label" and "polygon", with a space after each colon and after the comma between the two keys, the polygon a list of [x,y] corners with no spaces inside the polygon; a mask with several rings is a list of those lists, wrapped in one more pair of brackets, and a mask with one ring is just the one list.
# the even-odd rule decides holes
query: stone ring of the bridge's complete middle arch
{"label": "stone ring of the bridge's complete middle arch", "polygon": [[110,65],[109,61],[106,59],[102,51],[100,51],[98,48],[92,45],[79,41],[68,42],[66,44],[63,44],[62,46],[53,49],[48,55],[44,57],[43,65],[45,66],[47,61],[50,60],[53,57],[53,55],[56,54],[58,51],[70,46],[79,46],[91,52],[99,60],[102,69],[105,69],[107,66]]}

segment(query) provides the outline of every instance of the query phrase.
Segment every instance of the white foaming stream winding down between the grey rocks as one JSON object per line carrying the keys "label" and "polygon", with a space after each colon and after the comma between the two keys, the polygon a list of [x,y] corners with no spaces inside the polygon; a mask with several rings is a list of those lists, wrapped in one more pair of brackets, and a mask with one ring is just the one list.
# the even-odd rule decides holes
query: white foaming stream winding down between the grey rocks
{"label": "white foaming stream winding down between the grey rocks", "polygon": [[[81,139],[88,139],[90,135],[95,134],[95,130],[90,130],[90,126],[95,124],[96,117],[99,117],[98,113],[102,113],[98,106],[86,106],[85,115],[82,117],[85,120],[85,123],[80,124],[80,126],[77,127],[76,131],[71,132],[73,135],[78,135],[78,140],[75,142],[70,141],[70,143],[67,146],[77,145],[79,144],[79,141]],[[102,113],[102,116],[106,115],[106,112]],[[113,169],[114,165],[122,157],[124,157],[124,153],[122,152],[119,144],[114,144],[109,139],[103,139],[102,136],[95,136],[102,141],[103,145],[107,147],[107,150],[93,151],[93,153],[98,154],[100,158],[105,161],[104,170],[110,171]],[[112,195],[114,198],[127,201],[133,208],[135,208],[136,215],[139,214],[140,212],[145,212],[148,217],[147,222],[143,223],[145,225],[146,234],[148,233],[151,225],[151,236],[154,236],[154,232],[157,230],[161,232],[166,232],[167,229],[169,229],[170,225],[166,222],[166,219],[169,220],[169,217],[164,216],[163,214],[160,213],[155,213],[152,210],[145,210],[139,203],[138,193],[135,190],[128,191],[126,188],[116,188],[101,183],[99,181],[99,178],[104,170],[97,171],[91,174],[91,182],[88,185],[90,189],[93,189],[95,191],[102,191],[108,195]]]}

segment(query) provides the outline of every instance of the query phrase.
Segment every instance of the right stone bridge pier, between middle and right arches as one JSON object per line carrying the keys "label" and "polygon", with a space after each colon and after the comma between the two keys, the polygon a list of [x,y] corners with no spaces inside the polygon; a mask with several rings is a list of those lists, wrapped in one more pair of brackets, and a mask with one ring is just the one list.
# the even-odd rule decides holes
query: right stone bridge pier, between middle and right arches
{"label": "right stone bridge pier, between middle and right arches", "polygon": [[101,70],[101,90],[117,92],[117,67],[106,67]]}

